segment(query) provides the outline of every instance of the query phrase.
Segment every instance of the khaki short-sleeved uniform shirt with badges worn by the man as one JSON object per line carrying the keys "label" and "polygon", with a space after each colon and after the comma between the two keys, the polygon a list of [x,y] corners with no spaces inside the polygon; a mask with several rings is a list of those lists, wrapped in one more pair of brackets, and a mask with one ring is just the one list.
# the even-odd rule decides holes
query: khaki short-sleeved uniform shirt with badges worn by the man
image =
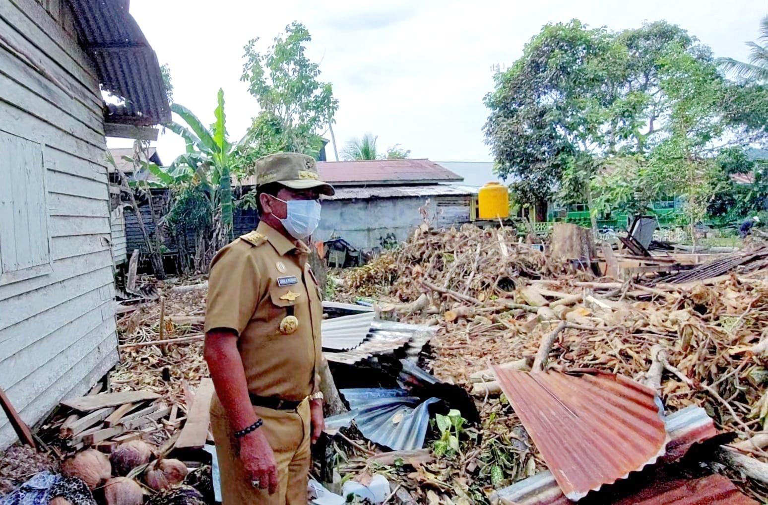
{"label": "khaki short-sleeved uniform shirt with badges worn by the man", "polygon": [[258,396],[300,401],[319,391],[323,308],[309,254],[262,222],[211,262],[205,332],[237,332],[248,390]]}

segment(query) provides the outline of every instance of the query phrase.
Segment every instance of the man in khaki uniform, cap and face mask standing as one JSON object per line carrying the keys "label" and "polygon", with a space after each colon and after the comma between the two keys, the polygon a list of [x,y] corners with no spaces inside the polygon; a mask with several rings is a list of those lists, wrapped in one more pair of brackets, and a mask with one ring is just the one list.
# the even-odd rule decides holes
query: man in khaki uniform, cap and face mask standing
{"label": "man in khaki uniform, cap and face mask standing", "polygon": [[310,441],[323,431],[319,288],[303,242],[319,222],[315,160],[256,163],[261,221],[210,267],[205,359],[223,505],[306,503]]}

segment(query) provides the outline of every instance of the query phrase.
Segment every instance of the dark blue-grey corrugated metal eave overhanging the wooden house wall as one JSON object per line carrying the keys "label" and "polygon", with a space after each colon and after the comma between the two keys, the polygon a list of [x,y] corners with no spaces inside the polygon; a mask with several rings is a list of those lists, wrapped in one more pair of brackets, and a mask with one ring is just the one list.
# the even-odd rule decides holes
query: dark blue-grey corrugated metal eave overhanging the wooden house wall
{"label": "dark blue-grey corrugated metal eave overhanging the wooden house wall", "polygon": [[104,91],[124,99],[109,123],[152,126],[170,121],[165,84],[151,46],[121,2],[69,0],[81,47],[93,58]]}

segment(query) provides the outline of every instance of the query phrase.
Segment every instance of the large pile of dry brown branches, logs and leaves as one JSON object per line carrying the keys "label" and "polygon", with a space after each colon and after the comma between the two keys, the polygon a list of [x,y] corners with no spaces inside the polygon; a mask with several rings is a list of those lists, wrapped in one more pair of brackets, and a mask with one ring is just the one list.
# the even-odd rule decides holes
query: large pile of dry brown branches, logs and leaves
{"label": "large pile of dry brown branches, logs and leaves", "polygon": [[[634,379],[658,392],[667,414],[700,407],[719,430],[760,442],[746,450],[760,463],[768,456],[760,437],[768,417],[766,258],[760,246],[694,268],[688,257],[654,256],[617,280],[594,273],[607,259],[556,259],[505,229],[422,227],[400,249],[343,273],[337,295],[344,302],[365,295],[382,317],[435,326],[423,365],[472,391],[482,424],[465,428],[452,457],[406,465],[410,472],[389,468],[387,476],[397,474],[419,501],[472,503],[545,470],[493,365]],[[349,449],[358,459],[344,472],[382,471]],[[743,490],[764,500],[766,483],[750,477]]]}

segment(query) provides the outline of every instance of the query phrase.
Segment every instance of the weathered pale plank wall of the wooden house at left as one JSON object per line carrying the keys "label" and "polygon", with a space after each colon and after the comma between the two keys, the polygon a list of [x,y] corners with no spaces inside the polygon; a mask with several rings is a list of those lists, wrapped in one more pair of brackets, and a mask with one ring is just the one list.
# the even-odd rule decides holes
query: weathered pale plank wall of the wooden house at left
{"label": "weathered pale plank wall of the wooden house at left", "polygon": [[0,34],[0,180],[32,182],[0,196],[0,387],[34,425],[118,360],[106,146],[66,2],[0,0]]}

